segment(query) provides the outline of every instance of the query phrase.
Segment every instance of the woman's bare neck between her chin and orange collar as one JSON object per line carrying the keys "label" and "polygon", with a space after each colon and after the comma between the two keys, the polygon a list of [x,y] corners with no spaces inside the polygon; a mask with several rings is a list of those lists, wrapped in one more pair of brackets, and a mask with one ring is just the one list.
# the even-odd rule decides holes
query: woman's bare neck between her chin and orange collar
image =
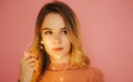
{"label": "woman's bare neck between her chin and orange collar", "polygon": [[51,58],[51,63],[68,63],[69,62],[70,57],[65,55],[62,58],[58,58],[58,59],[52,59]]}

